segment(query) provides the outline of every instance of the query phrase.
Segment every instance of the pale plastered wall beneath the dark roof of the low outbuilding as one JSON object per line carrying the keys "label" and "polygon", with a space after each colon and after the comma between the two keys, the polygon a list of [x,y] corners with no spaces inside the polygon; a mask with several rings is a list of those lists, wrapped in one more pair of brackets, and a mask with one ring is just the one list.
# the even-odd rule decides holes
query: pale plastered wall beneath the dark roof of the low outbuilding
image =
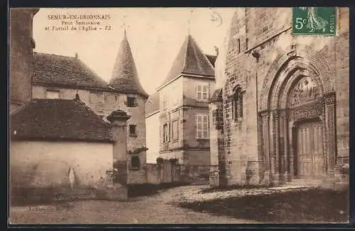
{"label": "pale plastered wall beneath the dark roof of the low outbuilding", "polygon": [[112,144],[95,142],[11,141],[10,184],[19,188],[95,187],[112,171]]}

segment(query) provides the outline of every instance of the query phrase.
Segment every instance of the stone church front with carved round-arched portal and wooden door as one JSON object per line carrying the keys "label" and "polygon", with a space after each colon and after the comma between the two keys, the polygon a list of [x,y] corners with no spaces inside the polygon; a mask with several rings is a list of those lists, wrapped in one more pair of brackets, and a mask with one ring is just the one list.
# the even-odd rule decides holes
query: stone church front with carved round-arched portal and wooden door
{"label": "stone church front with carved round-arched portal and wooden door", "polygon": [[210,183],[334,180],[349,166],[349,9],[336,36],[293,35],[291,8],[239,8],[209,103]]}

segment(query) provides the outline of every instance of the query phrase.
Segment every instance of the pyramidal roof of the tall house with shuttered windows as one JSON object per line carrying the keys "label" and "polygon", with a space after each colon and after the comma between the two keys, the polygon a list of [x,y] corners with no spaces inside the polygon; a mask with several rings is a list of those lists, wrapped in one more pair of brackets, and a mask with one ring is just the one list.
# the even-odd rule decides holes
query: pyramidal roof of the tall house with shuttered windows
{"label": "pyramidal roof of the tall house with shuttered windows", "polygon": [[189,34],[180,48],[178,56],[173,62],[164,84],[178,77],[180,74],[197,74],[203,77],[214,77],[214,67],[202,52],[196,41]]}

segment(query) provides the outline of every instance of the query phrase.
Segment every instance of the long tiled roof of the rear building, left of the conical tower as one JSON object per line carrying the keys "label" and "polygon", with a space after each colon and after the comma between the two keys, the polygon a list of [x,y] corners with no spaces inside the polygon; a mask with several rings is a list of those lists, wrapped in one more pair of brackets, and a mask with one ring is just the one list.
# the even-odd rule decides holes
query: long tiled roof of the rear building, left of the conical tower
{"label": "long tiled roof of the rear building, left of the conical tower", "polygon": [[78,57],[34,52],[33,84],[50,84],[74,88],[109,89]]}

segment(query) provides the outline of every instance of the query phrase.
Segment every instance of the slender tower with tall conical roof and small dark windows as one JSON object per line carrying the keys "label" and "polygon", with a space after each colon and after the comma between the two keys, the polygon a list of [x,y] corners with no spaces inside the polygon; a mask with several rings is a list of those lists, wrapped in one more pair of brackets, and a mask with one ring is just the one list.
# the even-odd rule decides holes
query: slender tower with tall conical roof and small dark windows
{"label": "slender tower with tall conical roof and small dark windows", "polygon": [[148,94],[139,81],[136,64],[127,40],[126,30],[121,41],[109,85],[124,99],[127,120],[127,154],[129,160],[128,184],[146,182],[146,100]]}

